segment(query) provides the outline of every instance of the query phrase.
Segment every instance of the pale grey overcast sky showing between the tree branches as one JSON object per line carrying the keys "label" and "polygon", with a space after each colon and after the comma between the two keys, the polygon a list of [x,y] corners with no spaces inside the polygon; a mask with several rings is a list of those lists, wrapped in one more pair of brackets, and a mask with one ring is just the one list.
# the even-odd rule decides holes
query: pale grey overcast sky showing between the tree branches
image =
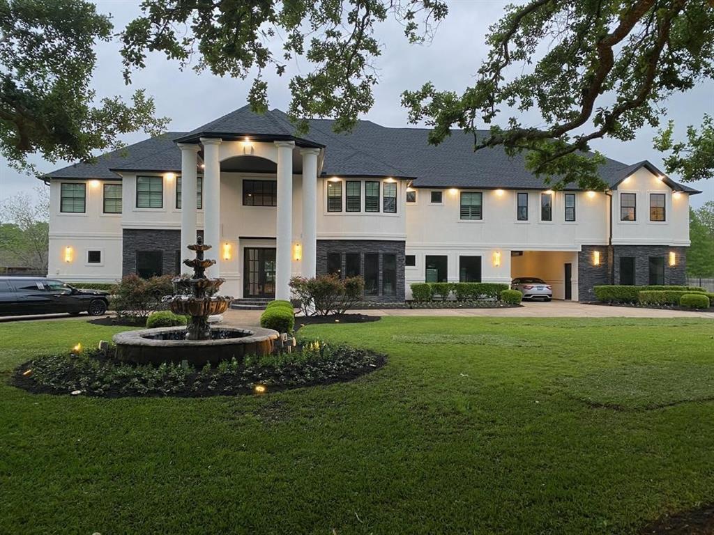
{"label": "pale grey overcast sky showing between the tree branches", "polygon": [[[101,13],[111,14],[116,31],[140,13],[139,1],[100,0],[97,4]],[[400,94],[405,89],[418,88],[428,80],[433,81],[438,89],[461,92],[472,82],[473,73],[486,55],[484,37],[488,26],[501,17],[505,5],[505,1],[449,2],[448,17],[438,27],[435,38],[428,46],[408,44],[396,21],[380,25],[376,36],[383,44],[382,56],[377,59],[381,81],[375,90],[375,105],[364,118],[384,126],[408,126],[406,110],[400,106]],[[134,89],[146,88],[147,93],[154,96],[158,115],[171,118],[169,130],[189,131],[246,103],[249,80],[218,78],[206,71],[196,74],[190,69],[181,72],[176,63],[166,61],[159,54],[150,56],[147,67],[134,75],[133,85],[127,88],[121,77],[118,51],[116,43],[99,45],[93,84],[97,96],[118,94],[128,97]],[[305,72],[307,68],[305,63],[293,63],[288,69],[288,76],[268,77],[271,108],[287,109],[289,75]],[[714,83],[711,81],[668,103],[668,116],[675,120],[679,134],[688,124],[699,125],[703,113],[714,114]],[[635,163],[649,160],[663,168],[660,153],[652,148],[654,134],[654,131],[645,128],[634,141],[605,140],[594,142],[592,146],[618,161]],[[144,137],[141,133],[133,134],[126,136],[124,141],[134,143]],[[42,171],[71,163],[49,163],[41,158],[32,161]],[[677,177],[673,178],[676,180]],[[11,170],[6,161],[0,159],[0,199],[19,191],[31,192],[38,183],[41,184],[39,180]],[[691,185],[704,192],[692,198],[695,207],[706,200],[714,200],[713,180]]]}

